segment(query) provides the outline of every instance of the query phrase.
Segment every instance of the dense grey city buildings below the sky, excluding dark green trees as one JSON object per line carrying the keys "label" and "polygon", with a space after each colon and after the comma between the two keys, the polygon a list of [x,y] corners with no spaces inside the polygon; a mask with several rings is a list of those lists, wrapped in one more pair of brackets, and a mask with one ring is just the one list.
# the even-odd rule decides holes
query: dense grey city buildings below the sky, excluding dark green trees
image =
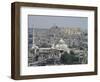
{"label": "dense grey city buildings below the sky, excluding dark green trees", "polygon": [[61,55],[71,50],[78,54],[79,62],[87,62],[88,35],[80,28],[30,28],[28,34],[29,66],[42,65],[41,62],[47,59],[54,59],[53,64],[59,64]]}

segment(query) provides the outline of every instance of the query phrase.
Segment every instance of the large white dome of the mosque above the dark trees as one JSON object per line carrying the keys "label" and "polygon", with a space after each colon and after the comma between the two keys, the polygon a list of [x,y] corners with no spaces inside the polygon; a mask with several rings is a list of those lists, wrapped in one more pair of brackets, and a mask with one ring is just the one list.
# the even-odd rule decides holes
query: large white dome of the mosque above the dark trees
{"label": "large white dome of the mosque above the dark trees", "polygon": [[68,46],[67,46],[67,44],[65,44],[65,41],[63,39],[59,40],[59,42],[55,46],[55,48],[58,49],[58,50],[64,50],[64,51],[68,50]]}

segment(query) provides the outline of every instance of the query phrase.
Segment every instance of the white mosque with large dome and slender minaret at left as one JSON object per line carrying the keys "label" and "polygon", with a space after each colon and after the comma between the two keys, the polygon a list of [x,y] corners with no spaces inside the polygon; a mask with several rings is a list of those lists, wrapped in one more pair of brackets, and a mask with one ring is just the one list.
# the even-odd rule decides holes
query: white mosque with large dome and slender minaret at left
{"label": "white mosque with large dome and slender minaret at left", "polygon": [[35,45],[33,40],[33,46],[31,51],[34,56],[33,59],[35,58],[35,61],[42,62],[47,59],[60,60],[61,55],[64,52],[69,53],[70,49],[68,48],[68,45],[65,44],[65,41],[61,38],[56,45],[52,44],[50,48],[39,48]]}

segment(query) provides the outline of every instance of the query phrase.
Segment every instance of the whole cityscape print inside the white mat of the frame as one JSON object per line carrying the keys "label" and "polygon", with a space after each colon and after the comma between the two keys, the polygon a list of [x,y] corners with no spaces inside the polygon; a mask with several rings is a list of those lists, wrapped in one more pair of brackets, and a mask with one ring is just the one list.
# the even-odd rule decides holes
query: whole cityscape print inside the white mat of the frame
{"label": "whole cityscape print inside the white mat of the frame", "polygon": [[87,64],[87,23],[86,17],[29,16],[28,66]]}

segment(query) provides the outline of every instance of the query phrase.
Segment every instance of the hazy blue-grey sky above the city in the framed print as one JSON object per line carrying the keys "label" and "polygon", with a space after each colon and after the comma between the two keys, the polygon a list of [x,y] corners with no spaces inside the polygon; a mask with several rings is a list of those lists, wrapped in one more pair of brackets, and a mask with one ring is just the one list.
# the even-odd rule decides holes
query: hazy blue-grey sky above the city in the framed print
{"label": "hazy blue-grey sky above the city in the framed print", "polygon": [[80,27],[87,29],[87,17],[69,17],[69,16],[28,16],[29,28],[50,28],[57,25],[58,27]]}

